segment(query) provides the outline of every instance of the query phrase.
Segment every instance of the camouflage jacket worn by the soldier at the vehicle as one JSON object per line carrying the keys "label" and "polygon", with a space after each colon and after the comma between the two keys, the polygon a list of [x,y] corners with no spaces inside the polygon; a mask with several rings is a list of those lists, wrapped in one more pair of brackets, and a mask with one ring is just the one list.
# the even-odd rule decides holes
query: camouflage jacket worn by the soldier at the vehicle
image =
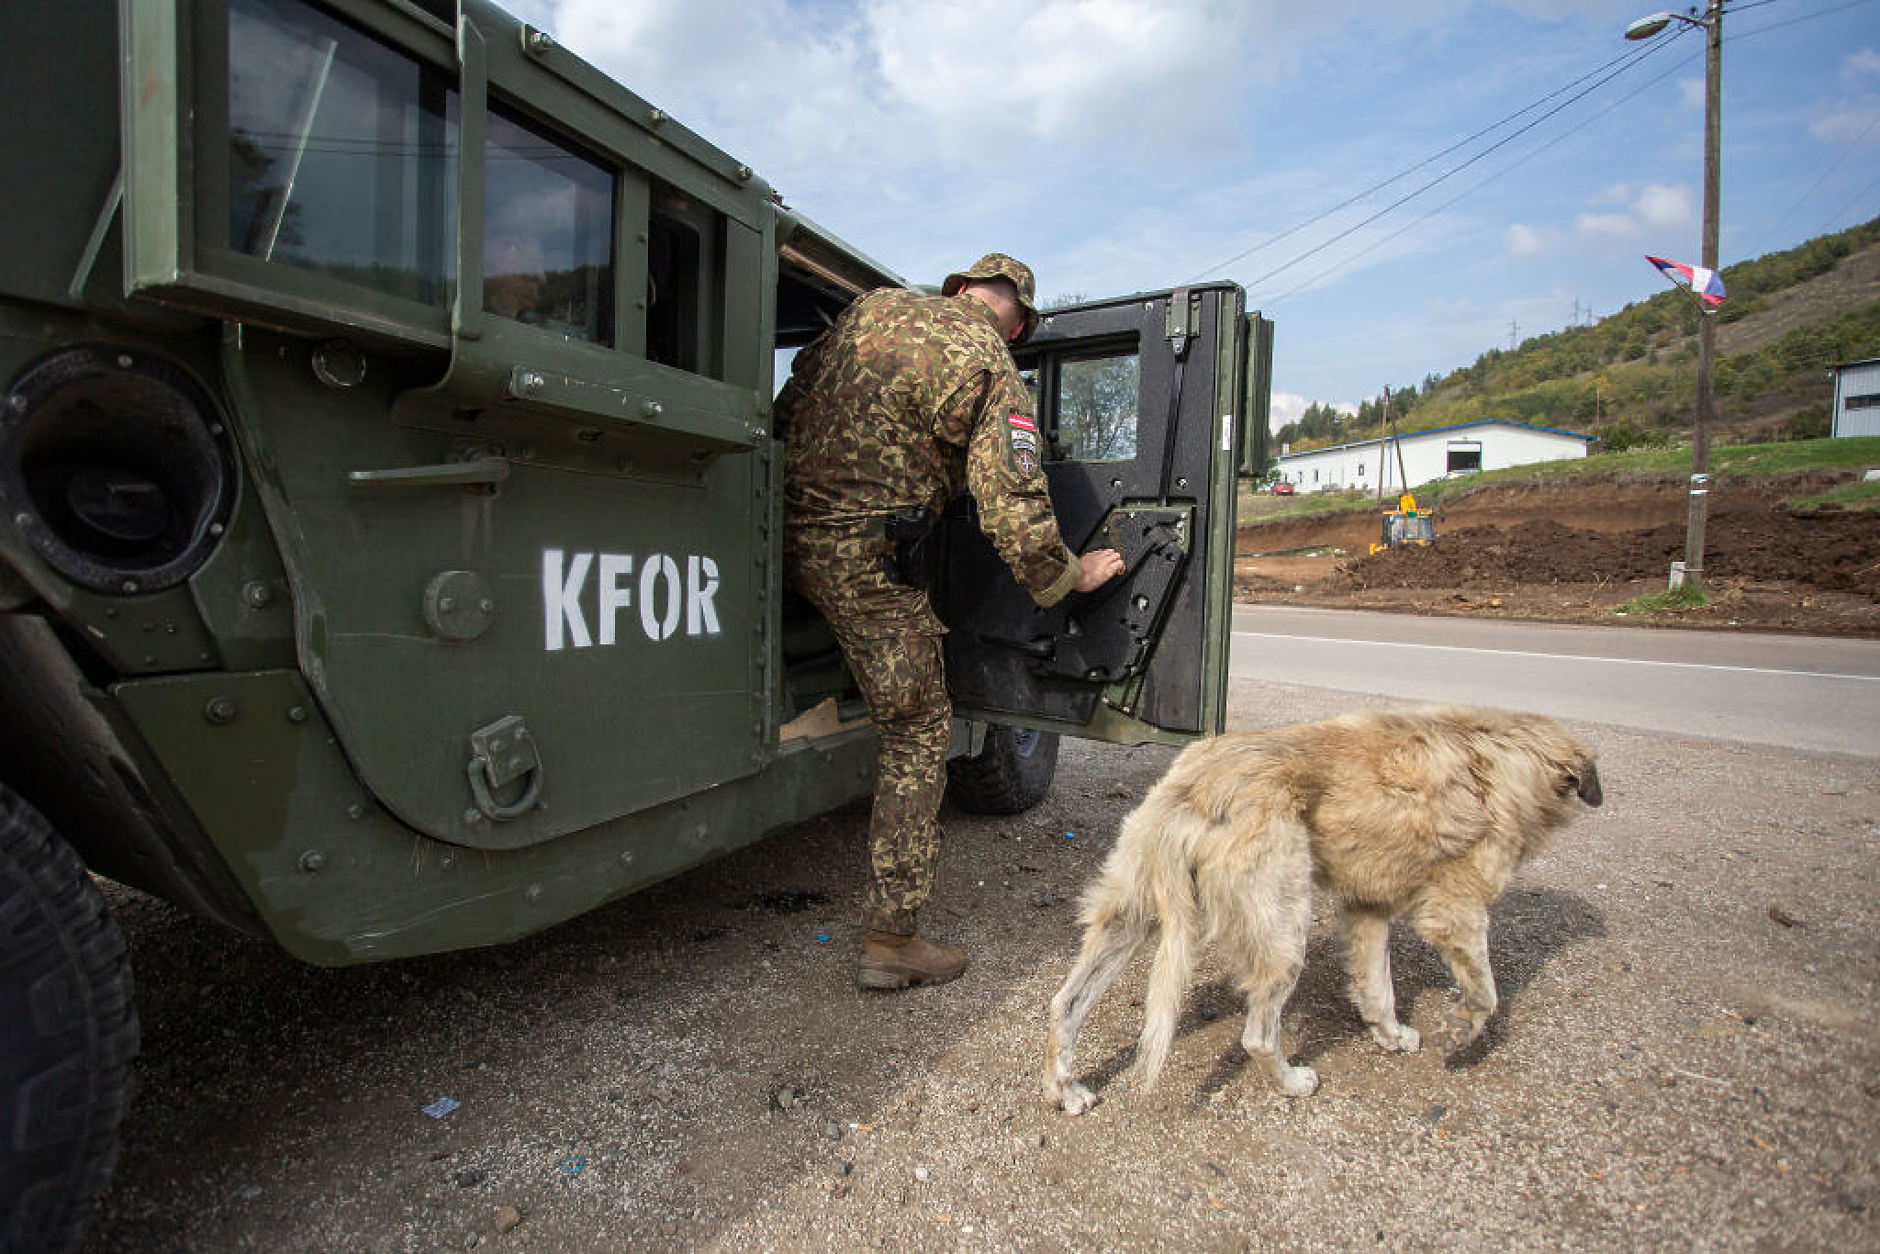
{"label": "camouflage jacket worn by the soldier at the vehicle", "polygon": [[972,297],[880,288],[797,353],[776,397],[784,523],[878,526],[972,493],[979,526],[1040,605],[1077,583],[1040,468],[1032,399]]}

